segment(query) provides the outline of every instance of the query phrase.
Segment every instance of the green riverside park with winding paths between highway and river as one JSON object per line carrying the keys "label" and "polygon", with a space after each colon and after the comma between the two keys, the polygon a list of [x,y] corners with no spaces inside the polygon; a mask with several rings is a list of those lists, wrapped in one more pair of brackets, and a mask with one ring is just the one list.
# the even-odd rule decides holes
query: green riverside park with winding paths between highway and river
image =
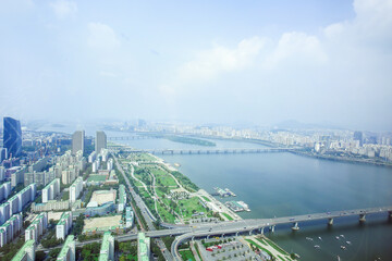
{"label": "green riverside park with winding paths between highway and river", "polygon": [[[125,148],[126,146],[120,146]],[[119,148],[115,146],[115,148]],[[177,169],[149,153],[125,153],[120,159],[151,213],[166,223],[193,224],[241,220]]]}

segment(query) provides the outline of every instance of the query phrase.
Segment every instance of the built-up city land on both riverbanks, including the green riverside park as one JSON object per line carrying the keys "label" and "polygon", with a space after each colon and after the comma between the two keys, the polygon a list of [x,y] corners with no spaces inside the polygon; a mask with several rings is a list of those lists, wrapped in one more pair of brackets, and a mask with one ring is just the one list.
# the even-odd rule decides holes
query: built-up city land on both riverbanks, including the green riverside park
{"label": "built-up city land on both riverbanks, including the green riverside park", "polygon": [[[95,137],[84,130],[69,135],[3,117],[0,260],[298,259],[264,235],[264,228],[273,232],[274,225],[252,226],[237,214],[249,211],[245,202],[219,200],[234,198],[233,191],[216,188],[211,195],[159,158],[164,153],[259,152],[215,150],[215,144],[203,138],[256,142],[327,160],[392,164],[391,134],[147,124],[143,120],[105,124],[100,129]],[[107,137],[106,132],[121,135]],[[154,137],[206,149],[149,151],[117,142]],[[365,220],[364,213],[359,216]],[[327,217],[332,224],[331,213]]]}

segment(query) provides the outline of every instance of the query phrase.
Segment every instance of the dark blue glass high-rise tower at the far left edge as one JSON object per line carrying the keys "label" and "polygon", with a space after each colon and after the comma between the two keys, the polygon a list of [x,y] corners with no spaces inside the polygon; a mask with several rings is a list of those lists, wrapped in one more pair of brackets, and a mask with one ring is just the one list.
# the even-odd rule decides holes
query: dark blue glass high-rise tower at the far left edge
{"label": "dark blue glass high-rise tower at the far left edge", "polygon": [[9,157],[19,157],[22,152],[22,128],[21,122],[4,117],[3,147],[7,148]]}

